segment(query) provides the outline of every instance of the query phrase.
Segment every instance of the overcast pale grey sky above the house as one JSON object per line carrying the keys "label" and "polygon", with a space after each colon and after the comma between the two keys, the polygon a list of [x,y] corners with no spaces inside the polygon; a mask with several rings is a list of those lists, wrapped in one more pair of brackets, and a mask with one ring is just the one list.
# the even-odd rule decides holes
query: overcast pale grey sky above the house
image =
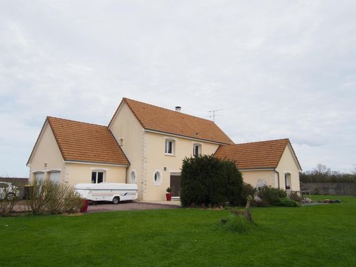
{"label": "overcast pale grey sky above the house", "polygon": [[356,164],[356,1],[0,1],[0,175],[46,116],[107,125],[122,97]]}

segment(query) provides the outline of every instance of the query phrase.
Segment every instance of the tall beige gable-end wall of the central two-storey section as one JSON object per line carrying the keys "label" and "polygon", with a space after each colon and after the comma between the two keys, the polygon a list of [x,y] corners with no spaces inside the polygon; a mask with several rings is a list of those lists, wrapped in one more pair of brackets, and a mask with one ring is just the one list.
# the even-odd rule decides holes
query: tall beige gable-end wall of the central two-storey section
{"label": "tall beige gable-end wall of the central two-storey section", "polygon": [[120,106],[114,120],[110,124],[110,130],[119,143],[119,139],[124,138],[121,148],[130,162],[130,166],[127,168],[126,181],[127,183],[132,182],[131,171],[134,171],[138,185],[138,198],[142,199],[145,186],[144,181],[142,181],[142,173],[144,172],[144,147],[142,145],[144,131],[125,102]]}

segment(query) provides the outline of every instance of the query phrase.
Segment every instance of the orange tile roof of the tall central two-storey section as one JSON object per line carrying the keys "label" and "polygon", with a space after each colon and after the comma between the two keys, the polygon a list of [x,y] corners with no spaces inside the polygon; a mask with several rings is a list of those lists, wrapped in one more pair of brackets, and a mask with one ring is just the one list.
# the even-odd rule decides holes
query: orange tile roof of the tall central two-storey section
{"label": "orange tile roof of the tall central two-storey section", "polygon": [[212,120],[167,110],[132,99],[123,98],[123,101],[127,103],[144,129],[221,144],[233,144],[229,136]]}

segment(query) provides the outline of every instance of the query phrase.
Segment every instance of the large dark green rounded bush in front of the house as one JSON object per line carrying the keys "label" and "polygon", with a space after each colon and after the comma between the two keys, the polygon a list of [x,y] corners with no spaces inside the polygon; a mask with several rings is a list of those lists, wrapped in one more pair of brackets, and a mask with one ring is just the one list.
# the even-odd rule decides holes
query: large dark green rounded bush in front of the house
{"label": "large dark green rounded bush in front of the house", "polygon": [[242,175],[236,164],[212,155],[186,157],[181,170],[181,204],[242,205]]}

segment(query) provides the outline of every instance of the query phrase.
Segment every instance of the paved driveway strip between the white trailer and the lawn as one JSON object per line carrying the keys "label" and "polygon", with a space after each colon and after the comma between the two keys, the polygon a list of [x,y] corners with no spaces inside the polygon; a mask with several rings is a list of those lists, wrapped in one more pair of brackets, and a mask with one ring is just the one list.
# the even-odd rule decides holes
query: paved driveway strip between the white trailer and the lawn
{"label": "paved driveway strip between the white trailer and the lawn", "polygon": [[147,203],[140,201],[123,201],[114,205],[112,203],[96,203],[88,206],[88,213],[109,212],[113,210],[142,210],[142,209],[175,209],[179,205],[168,205],[162,203]]}

